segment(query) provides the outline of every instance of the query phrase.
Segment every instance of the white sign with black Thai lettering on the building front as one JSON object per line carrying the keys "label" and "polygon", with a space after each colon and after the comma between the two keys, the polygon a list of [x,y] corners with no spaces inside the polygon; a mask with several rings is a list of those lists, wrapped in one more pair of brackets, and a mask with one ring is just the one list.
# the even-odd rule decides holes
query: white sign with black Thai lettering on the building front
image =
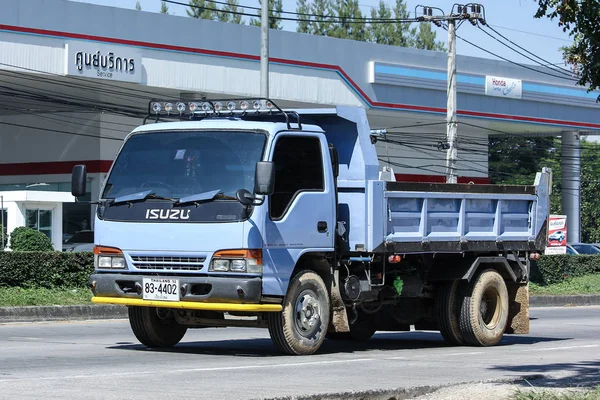
{"label": "white sign with black Thai lettering on the building front", "polygon": [[65,45],[65,73],[114,81],[142,81],[142,57],[138,49],[95,42]]}

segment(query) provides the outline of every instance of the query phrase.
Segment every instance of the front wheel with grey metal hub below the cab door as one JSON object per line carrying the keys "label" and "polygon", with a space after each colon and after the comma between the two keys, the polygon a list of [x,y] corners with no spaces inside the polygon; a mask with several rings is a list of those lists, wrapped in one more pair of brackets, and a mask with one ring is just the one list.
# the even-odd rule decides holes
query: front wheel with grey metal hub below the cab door
{"label": "front wheel with grey metal hub below the cab door", "polygon": [[291,355],[316,352],[327,333],[329,294],[319,275],[300,271],[290,281],[283,310],[267,313],[271,340],[277,349]]}

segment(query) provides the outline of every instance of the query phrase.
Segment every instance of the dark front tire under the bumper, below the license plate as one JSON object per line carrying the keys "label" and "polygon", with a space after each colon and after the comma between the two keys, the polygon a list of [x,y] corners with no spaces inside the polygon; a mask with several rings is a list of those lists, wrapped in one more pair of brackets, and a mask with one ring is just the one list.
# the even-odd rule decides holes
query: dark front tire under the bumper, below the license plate
{"label": "dark front tire under the bumper, below the license plate", "polygon": [[130,306],[128,312],[133,334],[146,347],[173,347],[187,331],[168,309]]}

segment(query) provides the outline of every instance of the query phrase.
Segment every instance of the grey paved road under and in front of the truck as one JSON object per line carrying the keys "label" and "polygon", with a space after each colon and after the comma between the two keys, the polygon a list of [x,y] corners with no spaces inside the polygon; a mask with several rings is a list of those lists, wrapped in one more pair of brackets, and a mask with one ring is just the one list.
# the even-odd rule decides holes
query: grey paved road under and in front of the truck
{"label": "grey paved road under and in front of the truck", "polygon": [[0,397],[256,399],[411,388],[544,374],[600,384],[600,307],[536,308],[531,334],[491,348],[439,333],[378,333],[282,356],[266,330],[190,330],[168,351],[139,345],[125,320],[0,324]]}

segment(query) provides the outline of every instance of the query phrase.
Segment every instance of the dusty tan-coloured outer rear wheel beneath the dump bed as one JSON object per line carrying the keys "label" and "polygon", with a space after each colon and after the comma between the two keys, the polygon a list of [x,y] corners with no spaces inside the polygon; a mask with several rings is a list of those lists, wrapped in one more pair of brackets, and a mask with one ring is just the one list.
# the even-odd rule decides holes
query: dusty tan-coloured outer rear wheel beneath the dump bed
{"label": "dusty tan-coloured outer rear wheel beneath the dump bed", "polygon": [[460,330],[465,344],[494,346],[508,323],[508,290],[500,274],[483,271],[467,286],[460,309]]}

